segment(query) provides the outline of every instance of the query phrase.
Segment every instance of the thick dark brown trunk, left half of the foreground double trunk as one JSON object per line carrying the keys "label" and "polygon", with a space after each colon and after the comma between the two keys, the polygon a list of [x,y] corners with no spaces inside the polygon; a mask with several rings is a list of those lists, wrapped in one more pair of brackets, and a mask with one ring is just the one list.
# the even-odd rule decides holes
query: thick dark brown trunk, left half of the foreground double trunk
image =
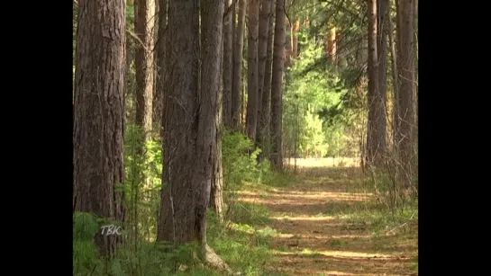
{"label": "thick dark brown trunk, left half of the foreground double trunk", "polygon": [[[158,241],[182,245],[202,241],[206,203],[195,182],[199,109],[199,10],[195,0],[168,1],[168,89],[164,94],[163,152]],[[212,169],[210,165],[210,169]],[[208,188],[209,189],[209,188]],[[208,190],[209,192],[209,190]],[[196,196],[201,196],[198,198]]]}

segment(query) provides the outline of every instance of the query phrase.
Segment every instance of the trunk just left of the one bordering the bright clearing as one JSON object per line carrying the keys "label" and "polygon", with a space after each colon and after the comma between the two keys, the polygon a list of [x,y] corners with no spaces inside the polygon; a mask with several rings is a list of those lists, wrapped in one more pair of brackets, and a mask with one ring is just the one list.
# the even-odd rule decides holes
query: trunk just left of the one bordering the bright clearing
{"label": "trunk just left of the one bordering the bright clearing", "polygon": [[[266,79],[266,67],[267,67],[267,58],[268,58],[268,39],[269,39],[269,25],[271,22],[271,7],[272,4],[271,2],[274,2],[273,0],[262,0],[261,5],[262,8],[260,10],[260,18],[259,18],[259,66],[258,66],[258,71],[259,71],[259,77],[258,77],[258,82],[259,82],[259,96],[258,96],[258,129],[257,129],[257,140],[259,142],[259,145],[262,147],[263,154],[261,156],[264,156],[264,150],[265,147],[268,147],[267,142],[265,141],[268,139],[267,138],[267,133],[268,133],[268,122],[264,120],[268,120],[268,118],[263,118],[264,116],[264,110],[267,109],[268,112],[270,110],[268,104],[269,104],[269,95],[270,92],[265,92],[265,79]],[[269,49],[271,46],[269,45]],[[270,65],[270,64],[269,64]],[[271,77],[271,68],[268,69],[268,77]],[[270,82],[270,80],[269,80]],[[264,96],[264,93],[267,93],[266,99]],[[266,129],[268,128],[268,129]]]}

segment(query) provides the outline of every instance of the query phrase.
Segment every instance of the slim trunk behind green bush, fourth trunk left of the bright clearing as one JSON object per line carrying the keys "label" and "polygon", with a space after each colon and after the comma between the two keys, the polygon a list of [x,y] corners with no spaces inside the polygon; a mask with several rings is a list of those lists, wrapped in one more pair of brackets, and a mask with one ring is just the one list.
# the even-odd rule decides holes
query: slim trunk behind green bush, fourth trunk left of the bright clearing
{"label": "slim trunk behind green bush, fourth trunk left of the bright clearing", "polygon": [[232,80],[232,125],[237,131],[241,130],[242,111],[242,51],[244,49],[244,30],[247,0],[239,1],[239,18],[235,35],[233,51],[233,80]]}

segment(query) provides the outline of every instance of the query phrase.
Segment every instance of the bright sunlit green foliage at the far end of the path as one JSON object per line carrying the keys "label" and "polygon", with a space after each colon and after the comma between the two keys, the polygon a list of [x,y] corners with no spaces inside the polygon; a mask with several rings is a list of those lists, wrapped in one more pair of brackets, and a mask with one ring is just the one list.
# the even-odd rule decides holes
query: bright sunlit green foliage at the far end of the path
{"label": "bright sunlit green foliage at the far end of the path", "polygon": [[345,121],[334,119],[342,113],[340,108],[348,90],[323,58],[323,46],[308,37],[304,40],[302,58],[296,60],[287,74],[284,144],[289,156],[295,152],[296,157],[339,155],[341,148],[350,145],[343,143]]}

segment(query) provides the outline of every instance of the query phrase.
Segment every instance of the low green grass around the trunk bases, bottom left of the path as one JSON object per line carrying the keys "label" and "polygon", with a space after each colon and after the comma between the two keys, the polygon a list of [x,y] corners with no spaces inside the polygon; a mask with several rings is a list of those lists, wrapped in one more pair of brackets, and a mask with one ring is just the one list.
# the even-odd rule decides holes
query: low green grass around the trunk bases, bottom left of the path
{"label": "low green grass around the trunk bases, bottom left of the path", "polygon": [[[258,222],[259,218],[266,218],[266,209],[250,209],[256,211],[242,213],[243,221]],[[246,276],[274,275],[266,269],[272,257],[269,240],[277,234],[274,229],[250,226],[243,221],[235,227],[223,227],[213,213],[209,215],[208,244],[234,272]],[[80,215],[77,217],[81,218]],[[77,229],[80,228],[77,222],[86,221],[84,218],[76,221]],[[119,248],[114,260],[106,262],[99,258],[95,245],[87,236],[78,236],[80,238],[74,240],[74,275],[221,275],[196,262],[192,257],[196,245],[183,245],[172,253],[160,250],[156,243],[142,242],[136,252],[132,245],[125,245]]]}

